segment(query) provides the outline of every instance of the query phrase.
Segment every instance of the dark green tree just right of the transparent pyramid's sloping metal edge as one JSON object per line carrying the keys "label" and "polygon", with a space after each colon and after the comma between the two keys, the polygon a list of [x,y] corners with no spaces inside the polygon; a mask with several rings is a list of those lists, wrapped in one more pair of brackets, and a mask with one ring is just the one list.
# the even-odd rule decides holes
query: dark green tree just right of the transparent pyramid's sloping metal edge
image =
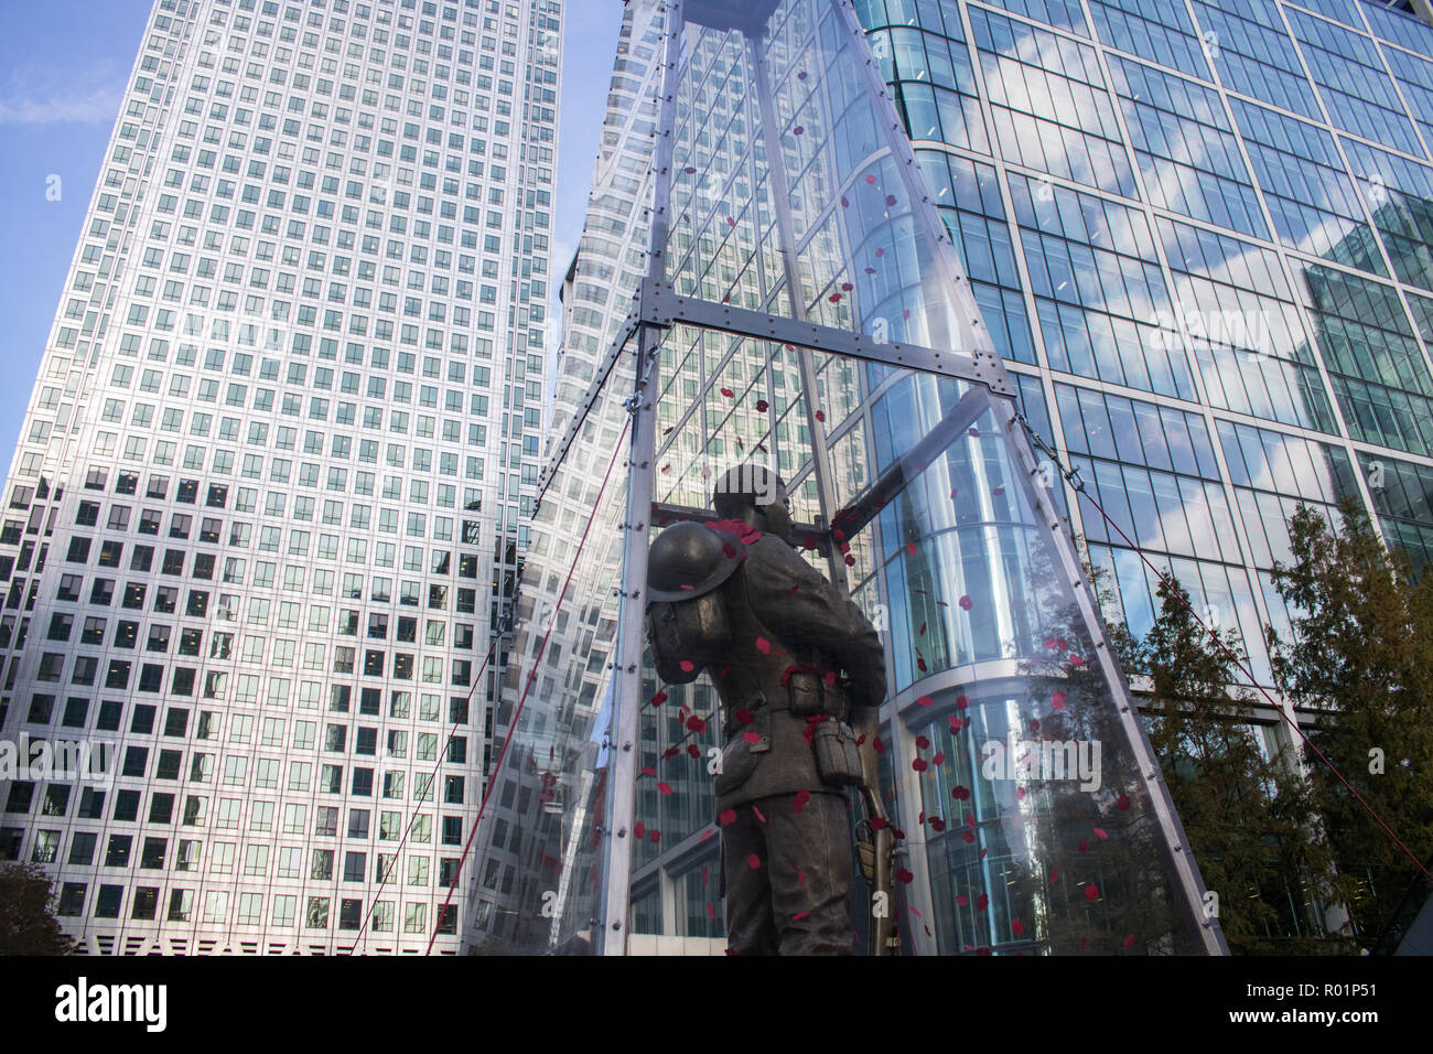
{"label": "dark green tree just right of the transparent pyramid's sloping metal edge", "polygon": [[[1261,749],[1247,707],[1230,694],[1245,680],[1238,634],[1199,625],[1172,578],[1159,584],[1158,598],[1159,617],[1142,641],[1123,627],[1112,640],[1126,671],[1149,678],[1149,743],[1205,886],[1218,896],[1230,951],[1351,951],[1323,935],[1317,908],[1333,878],[1313,790],[1290,751]],[[1295,918],[1283,918],[1290,912]],[[1308,936],[1273,936],[1291,922]]]}

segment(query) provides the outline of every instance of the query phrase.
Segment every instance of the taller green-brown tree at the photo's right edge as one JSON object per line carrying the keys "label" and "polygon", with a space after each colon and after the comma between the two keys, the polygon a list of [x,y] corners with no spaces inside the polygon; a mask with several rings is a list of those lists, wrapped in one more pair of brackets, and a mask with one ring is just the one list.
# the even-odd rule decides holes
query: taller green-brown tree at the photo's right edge
{"label": "taller green-brown tree at the photo's right edge", "polygon": [[1354,792],[1419,859],[1433,850],[1433,575],[1414,584],[1356,499],[1341,502],[1340,519],[1336,532],[1307,506],[1291,518],[1297,559],[1273,574],[1291,628],[1268,640],[1274,683],[1321,713],[1308,737],[1327,763],[1305,750],[1311,804],[1367,942],[1419,869]]}

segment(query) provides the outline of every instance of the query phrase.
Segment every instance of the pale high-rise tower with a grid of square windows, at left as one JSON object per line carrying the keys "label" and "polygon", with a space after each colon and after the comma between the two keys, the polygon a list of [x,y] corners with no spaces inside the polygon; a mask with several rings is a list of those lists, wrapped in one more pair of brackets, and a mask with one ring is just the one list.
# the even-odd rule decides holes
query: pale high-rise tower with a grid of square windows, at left
{"label": "pale high-rise tower with a grid of square windows, at left", "polygon": [[560,19],[155,4],[0,545],[4,737],[110,749],[0,789],[3,855],[83,949],[457,949],[537,472]]}

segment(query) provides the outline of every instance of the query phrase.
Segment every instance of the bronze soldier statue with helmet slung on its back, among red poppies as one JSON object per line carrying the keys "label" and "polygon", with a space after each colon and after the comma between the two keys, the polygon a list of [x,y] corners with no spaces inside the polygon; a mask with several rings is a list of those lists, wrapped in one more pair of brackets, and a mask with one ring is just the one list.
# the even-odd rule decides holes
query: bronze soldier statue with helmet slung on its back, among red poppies
{"label": "bronze soldier statue with helmet slung on its back, among red poppies", "polygon": [[648,632],[663,681],[705,670],[721,697],[728,945],[850,955],[845,789],[863,783],[850,726],[886,694],[881,641],[792,549],[775,473],[729,470],[712,506],[716,523],[675,523],[652,543]]}

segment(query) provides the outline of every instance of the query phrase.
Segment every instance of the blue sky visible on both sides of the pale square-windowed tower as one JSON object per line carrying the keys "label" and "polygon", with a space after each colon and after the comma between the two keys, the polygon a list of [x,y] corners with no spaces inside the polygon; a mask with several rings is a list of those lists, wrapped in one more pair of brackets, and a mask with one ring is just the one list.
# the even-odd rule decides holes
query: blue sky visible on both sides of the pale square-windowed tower
{"label": "blue sky visible on both sides of the pale square-windowed tower", "polygon": [[[150,0],[0,0],[0,466],[10,465]],[[550,271],[582,234],[622,0],[567,0]],[[59,199],[46,194],[56,186]]]}

